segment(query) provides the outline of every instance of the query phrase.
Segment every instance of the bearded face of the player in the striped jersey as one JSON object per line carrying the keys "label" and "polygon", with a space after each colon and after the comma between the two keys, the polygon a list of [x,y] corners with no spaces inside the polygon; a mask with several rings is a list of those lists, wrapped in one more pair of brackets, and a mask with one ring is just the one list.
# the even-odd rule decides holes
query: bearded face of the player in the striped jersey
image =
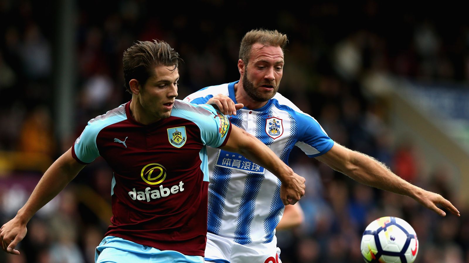
{"label": "bearded face of the player in the striped jersey", "polygon": [[280,46],[253,44],[249,62],[244,66],[242,87],[257,102],[272,99],[279,90],[283,64]]}

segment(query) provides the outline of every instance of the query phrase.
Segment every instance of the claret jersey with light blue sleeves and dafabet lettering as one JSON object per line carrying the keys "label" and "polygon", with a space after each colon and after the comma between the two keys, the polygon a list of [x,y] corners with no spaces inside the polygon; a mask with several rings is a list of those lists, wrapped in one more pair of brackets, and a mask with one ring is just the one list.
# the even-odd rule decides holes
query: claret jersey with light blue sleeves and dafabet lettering
{"label": "claret jersey with light blue sleeves and dafabet lettering", "polygon": [[170,117],[143,125],[129,104],[89,121],[72,147],[77,161],[102,156],[113,169],[113,217],[106,236],[204,256],[206,146],[223,146],[230,123],[210,105],[176,100]]}

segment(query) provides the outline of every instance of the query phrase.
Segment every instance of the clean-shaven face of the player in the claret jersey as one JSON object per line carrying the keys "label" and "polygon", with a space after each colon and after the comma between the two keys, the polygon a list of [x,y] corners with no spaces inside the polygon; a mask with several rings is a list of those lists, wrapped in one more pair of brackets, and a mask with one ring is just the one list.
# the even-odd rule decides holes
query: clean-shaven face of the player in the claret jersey
{"label": "clean-shaven face of the player in the claret jersey", "polygon": [[174,66],[156,66],[153,74],[140,89],[140,103],[156,120],[167,118],[177,97],[179,72]]}

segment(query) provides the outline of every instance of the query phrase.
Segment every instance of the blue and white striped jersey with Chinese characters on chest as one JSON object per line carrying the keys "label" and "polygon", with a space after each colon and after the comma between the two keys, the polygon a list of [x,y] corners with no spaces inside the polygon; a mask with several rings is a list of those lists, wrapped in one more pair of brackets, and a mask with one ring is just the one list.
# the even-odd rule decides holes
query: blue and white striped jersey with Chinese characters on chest
{"label": "blue and white striped jersey with Chinese characters on chest", "polygon": [[[237,103],[235,83],[203,88],[185,101],[202,104],[214,95],[224,94]],[[286,164],[295,145],[315,157],[334,144],[313,117],[279,93],[260,109],[243,108],[236,114],[227,116],[231,123],[256,136]],[[271,242],[284,210],[280,180],[239,153],[211,147],[207,147],[207,153],[208,231],[239,244]]]}

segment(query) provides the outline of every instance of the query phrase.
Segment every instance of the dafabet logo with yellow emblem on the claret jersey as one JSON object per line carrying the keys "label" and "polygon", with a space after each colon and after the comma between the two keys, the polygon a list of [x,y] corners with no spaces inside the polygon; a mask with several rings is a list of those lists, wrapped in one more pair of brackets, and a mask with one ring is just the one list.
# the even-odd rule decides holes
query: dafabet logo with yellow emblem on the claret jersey
{"label": "dafabet logo with yellow emblem on the claret jersey", "polygon": [[[166,179],[166,168],[158,163],[147,164],[144,166],[144,168],[142,168],[140,177],[142,177],[142,180],[144,180],[145,183],[151,185],[163,183],[163,181]],[[151,187],[145,188],[144,191],[137,191],[134,188],[132,189],[132,191],[129,191],[129,196],[130,198],[132,198],[132,200],[145,200],[147,202],[150,202],[151,199],[167,197],[170,194],[182,192],[184,191],[183,186],[184,183],[182,183],[181,181],[178,184],[173,185],[169,188],[164,187],[163,184],[160,184],[159,187],[154,190],[152,190]]]}

